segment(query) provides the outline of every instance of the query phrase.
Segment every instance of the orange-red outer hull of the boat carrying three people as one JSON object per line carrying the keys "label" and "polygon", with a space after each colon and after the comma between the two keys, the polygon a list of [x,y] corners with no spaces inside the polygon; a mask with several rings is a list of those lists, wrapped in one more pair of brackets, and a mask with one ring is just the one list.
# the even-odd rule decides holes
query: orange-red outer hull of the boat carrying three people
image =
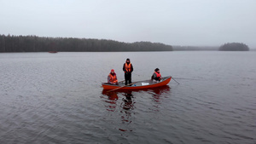
{"label": "orange-red outer hull of the boat carrying three people", "polygon": [[[103,89],[119,89],[119,90],[132,90],[132,89],[154,89],[154,88],[158,88],[161,86],[164,86],[166,84],[168,84],[171,81],[172,77],[167,77],[166,79],[164,79],[163,81],[159,82],[159,83],[154,83],[154,84],[148,84],[148,85],[140,85],[143,84],[144,82],[148,82],[147,81],[140,81],[140,82],[135,82],[134,84],[139,84],[139,86],[134,86],[134,84],[132,84],[131,86],[121,86],[121,85],[113,85],[113,84],[102,84],[102,88]],[[122,87],[122,88],[121,88]]]}

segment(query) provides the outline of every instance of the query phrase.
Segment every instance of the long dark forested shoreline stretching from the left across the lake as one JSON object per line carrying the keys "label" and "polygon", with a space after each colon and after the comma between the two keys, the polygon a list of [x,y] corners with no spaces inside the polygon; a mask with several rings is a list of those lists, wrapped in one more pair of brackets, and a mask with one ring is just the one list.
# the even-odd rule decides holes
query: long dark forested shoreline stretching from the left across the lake
{"label": "long dark forested shoreline stretching from the left across the lake", "polygon": [[164,43],[123,43],[107,39],[0,35],[0,52],[172,51]]}

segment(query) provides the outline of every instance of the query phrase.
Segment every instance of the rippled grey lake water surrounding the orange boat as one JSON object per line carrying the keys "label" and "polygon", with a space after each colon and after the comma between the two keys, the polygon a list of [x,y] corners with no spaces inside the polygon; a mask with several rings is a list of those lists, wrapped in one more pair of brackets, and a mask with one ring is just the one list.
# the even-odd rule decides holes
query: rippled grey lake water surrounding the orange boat
{"label": "rippled grey lake water surrounding the orange boat", "polygon": [[[160,89],[105,93],[113,68]],[[256,143],[256,52],[0,54],[0,143]]]}

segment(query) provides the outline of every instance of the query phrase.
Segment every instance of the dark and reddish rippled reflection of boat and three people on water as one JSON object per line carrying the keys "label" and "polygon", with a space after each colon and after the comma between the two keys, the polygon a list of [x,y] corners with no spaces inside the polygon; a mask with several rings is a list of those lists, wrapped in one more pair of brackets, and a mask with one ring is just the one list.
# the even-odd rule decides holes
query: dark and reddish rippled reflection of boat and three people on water
{"label": "dark and reddish rippled reflection of boat and three people on water", "polygon": [[[154,99],[154,101],[157,103],[157,105],[160,104],[160,96],[163,94],[169,94],[170,87],[168,85],[159,87],[157,89],[143,89],[143,90],[117,90],[117,91],[111,91],[108,92],[108,90],[102,90],[102,96],[106,102],[106,106],[108,111],[111,112],[118,112],[115,113],[119,115],[120,121],[122,124],[131,124],[132,122],[132,116],[135,114],[133,110],[135,109],[135,101],[134,101],[134,95],[137,93],[145,92],[147,95],[152,95],[151,98]],[[119,99],[121,98],[121,101]],[[154,106],[155,107],[155,106]],[[127,125],[126,125],[127,126]],[[124,125],[121,125],[120,127],[124,127]],[[129,127],[129,126],[128,126]],[[131,128],[125,128],[120,129],[120,131],[132,131]]]}

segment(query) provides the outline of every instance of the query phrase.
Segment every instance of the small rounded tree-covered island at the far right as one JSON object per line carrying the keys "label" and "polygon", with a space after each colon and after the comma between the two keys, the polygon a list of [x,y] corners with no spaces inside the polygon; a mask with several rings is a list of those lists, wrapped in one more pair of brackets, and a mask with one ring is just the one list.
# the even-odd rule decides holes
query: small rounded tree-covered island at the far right
{"label": "small rounded tree-covered island at the far right", "polygon": [[244,43],[225,43],[220,46],[219,51],[249,51],[249,48]]}

